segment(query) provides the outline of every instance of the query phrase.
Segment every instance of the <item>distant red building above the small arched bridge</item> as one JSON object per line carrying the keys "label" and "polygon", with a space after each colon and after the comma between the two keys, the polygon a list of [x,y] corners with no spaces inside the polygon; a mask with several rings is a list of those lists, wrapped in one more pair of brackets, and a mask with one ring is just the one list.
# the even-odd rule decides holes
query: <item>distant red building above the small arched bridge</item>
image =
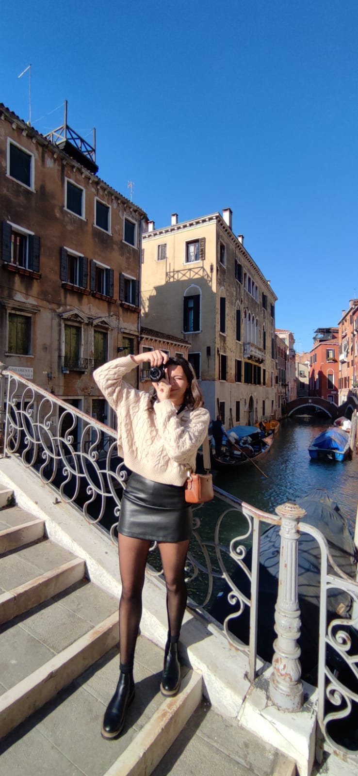
{"label": "distant red building above the small arched bridge", "polygon": [[318,396],[338,406],[338,327],[317,329],[310,352],[309,396]]}

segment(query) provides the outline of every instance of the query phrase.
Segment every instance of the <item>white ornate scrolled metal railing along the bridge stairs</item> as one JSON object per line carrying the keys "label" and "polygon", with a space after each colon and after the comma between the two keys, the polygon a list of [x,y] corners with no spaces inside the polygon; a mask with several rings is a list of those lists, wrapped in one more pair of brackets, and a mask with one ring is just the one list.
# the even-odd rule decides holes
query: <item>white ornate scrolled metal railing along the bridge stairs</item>
{"label": "white ornate scrolled metal railing along the bridge stairs", "polygon": [[[116,431],[9,370],[0,374],[0,436],[2,422],[5,455],[21,459],[24,466],[36,471],[44,483],[55,488],[65,502],[87,521],[109,532],[116,542],[120,501],[128,474],[117,453]],[[345,757],[351,756],[352,746],[345,745],[337,723],[338,728],[342,719],[345,725],[354,724],[351,719],[355,719],[358,703],[358,584],[335,565],[325,537],[316,528],[300,523],[305,513],[296,504],[287,502],[276,508],[277,514],[273,515],[217,487],[214,492],[213,502],[200,505],[193,512],[193,540],[186,566],[191,605],[205,608],[210,614],[214,611],[213,602],[217,605],[219,601],[220,607],[224,591],[229,611],[221,619],[222,629],[230,643],[248,656],[248,676],[254,681],[260,537],[263,526],[279,525],[280,573],[273,615],[276,639],[269,692],[279,708],[300,709],[303,689],[298,644],[301,632],[298,543],[300,532],[315,537],[321,551],[318,757],[324,747],[340,750]],[[155,568],[150,573],[160,574],[160,565],[155,565],[155,546],[151,550],[151,566]],[[332,587],[348,592],[355,608],[352,618],[338,617],[327,627],[327,597]],[[241,628],[245,618],[247,626]],[[239,627],[233,627],[237,623]],[[339,654],[341,676],[336,667],[331,667],[328,647]],[[352,681],[347,684],[349,674]]]}

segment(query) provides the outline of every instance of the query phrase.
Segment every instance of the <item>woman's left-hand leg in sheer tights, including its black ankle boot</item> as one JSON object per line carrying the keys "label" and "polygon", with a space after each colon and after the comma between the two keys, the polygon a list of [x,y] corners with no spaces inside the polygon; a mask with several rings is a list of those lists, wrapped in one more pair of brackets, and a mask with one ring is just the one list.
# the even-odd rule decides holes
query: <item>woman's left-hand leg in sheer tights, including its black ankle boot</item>
{"label": "woman's left-hand leg in sheer tights, including its black ankle boot", "polygon": [[127,706],[134,698],[133,663],[139,623],[141,622],[141,593],[144,585],[145,564],[151,542],[118,535],[120,577],[120,678],[113,698],[103,717],[103,738],[119,736]]}

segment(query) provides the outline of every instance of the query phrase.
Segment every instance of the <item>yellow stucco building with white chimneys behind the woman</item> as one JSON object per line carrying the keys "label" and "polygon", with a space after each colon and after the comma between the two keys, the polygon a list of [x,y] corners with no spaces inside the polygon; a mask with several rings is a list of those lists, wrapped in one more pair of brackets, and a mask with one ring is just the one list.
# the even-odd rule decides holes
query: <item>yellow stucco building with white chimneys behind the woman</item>
{"label": "yellow stucco building with white chimneys behind the woman", "polygon": [[232,231],[232,212],[142,238],[142,324],[191,342],[189,361],[212,417],[229,427],[274,417],[276,295]]}

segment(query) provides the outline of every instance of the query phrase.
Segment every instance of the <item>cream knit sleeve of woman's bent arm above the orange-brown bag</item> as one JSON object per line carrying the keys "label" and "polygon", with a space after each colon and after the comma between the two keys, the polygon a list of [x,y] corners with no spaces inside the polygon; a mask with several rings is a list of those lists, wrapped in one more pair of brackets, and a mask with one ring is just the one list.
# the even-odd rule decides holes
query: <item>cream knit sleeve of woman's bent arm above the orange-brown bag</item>
{"label": "cream knit sleeve of woman's bent arm above the orange-brown bag", "polygon": [[158,432],[168,456],[176,463],[188,463],[196,454],[207,435],[210,414],[203,407],[190,413],[189,422],[183,425],[170,399],[154,405]]}

